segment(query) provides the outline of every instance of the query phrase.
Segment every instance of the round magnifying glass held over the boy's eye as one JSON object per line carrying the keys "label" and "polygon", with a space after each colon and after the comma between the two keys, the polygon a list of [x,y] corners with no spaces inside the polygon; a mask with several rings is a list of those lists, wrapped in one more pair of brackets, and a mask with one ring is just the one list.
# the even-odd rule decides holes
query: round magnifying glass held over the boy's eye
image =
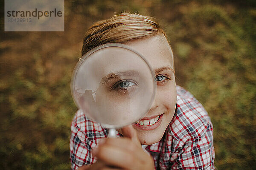
{"label": "round magnifying glass held over the boy's eye", "polygon": [[154,100],[155,74],[131,47],[119,43],[99,45],[79,60],[71,78],[76,106],[102,127],[108,137],[142,119]]}

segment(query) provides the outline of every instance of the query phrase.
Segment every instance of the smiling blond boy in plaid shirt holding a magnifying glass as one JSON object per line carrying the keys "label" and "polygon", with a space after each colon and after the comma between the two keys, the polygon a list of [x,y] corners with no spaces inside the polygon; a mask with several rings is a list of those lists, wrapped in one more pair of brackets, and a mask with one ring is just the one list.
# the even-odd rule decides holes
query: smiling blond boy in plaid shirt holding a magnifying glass
{"label": "smiling blond boy in plaid shirt holding a magnifying glass", "polygon": [[116,139],[106,139],[106,129],[77,111],[72,169],[214,170],[212,123],[192,94],[175,84],[172,49],[159,24],[128,13],[99,21],[87,31],[82,55],[109,42],[129,45],[145,57],[156,74],[157,94],[145,117],[118,130],[122,137]]}

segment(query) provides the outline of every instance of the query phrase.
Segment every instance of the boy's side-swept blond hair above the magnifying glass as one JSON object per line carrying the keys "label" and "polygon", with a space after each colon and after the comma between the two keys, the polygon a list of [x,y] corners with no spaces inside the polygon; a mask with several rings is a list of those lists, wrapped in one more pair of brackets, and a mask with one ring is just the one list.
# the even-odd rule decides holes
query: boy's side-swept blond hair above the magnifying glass
{"label": "boy's side-swept blond hair above the magnifying glass", "polygon": [[90,49],[105,43],[124,43],[165,32],[153,17],[140,14],[121,13],[108,20],[93,24],[84,35],[82,56]]}

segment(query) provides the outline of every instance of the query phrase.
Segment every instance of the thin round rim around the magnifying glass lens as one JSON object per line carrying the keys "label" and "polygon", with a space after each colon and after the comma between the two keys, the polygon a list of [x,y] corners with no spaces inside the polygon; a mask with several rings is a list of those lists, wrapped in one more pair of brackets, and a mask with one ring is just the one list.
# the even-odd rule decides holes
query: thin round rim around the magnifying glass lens
{"label": "thin round rim around the magnifying glass lens", "polygon": [[[144,62],[146,63],[146,65],[148,66],[149,70],[151,71],[151,76],[152,76],[152,79],[154,81],[154,85],[153,85],[153,94],[152,94],[152,97],[151,97],[151,100],[150,100],[150,103],[148,106],[148,110],[146,111],[146,113],[148,113],[148,111],[150,110],[151,108],[151,105],[153,104],[154,102],[154,97],[155,97],[155,94],[156,94],[156,80],[155,80],[155,73],[153,71],[153,69],[151,68],[151,66],[148,64],[147,60],[143,57],[142,54],[140,54],[138,51],[134,50],[133,48],[131,48],[130,46],[128,45],[125,45],[125,44],[120,44],[120,43],[106,43],[106,44],[102,44],[102,45],[99,45],[99,46],[96,46],[95,48],[91,49],[90,51],[88,51],[87,53],[85,53],[81,58],[79,58],[79,61],[76,63],[76,66],[73,70],[73,73],[71,75],[71,81],[70,81],[70,91],[71,91],[71,96],[73,98],[73,101],[76,105],[77,108],[81,109],[79,107],[79,104],[78,104],[78,101],[75,97],[75,80],[76,80],[76,75],[77,75],[77,72],[79,70],[79,68],[81,67],[82,63],[84,62],[85,59],[87,59],[87,57],[89,57],[91,54],[95,53],[96,51],[99,51],[101,50],[102,48],[107,48],[107,47],[119,47],[119,48],[125,48],[126,50],[129,50],[131,52],[134,52],[135,54],[137,54],[139,57],[141,57]],[[145,113],[145,114],[146,114]],[[143,118],[145,116],[145,114],[140,117],[139,119]],[[96,120],[95,120],[96,121]],[[96,121],[97,122],[97,121]],[[100,125],[102,125],[102,127],[105,127],[105,128],[121,128],[121,127],[124,127],[124,126],[127,126],[127,125],[130,125],[131,123],[128,123],[127,125],[122,125],[121,127],[117,126],[117,125],[108,125],[108,124],[105,124],[105,123],[100,123],[98,122]]]}

